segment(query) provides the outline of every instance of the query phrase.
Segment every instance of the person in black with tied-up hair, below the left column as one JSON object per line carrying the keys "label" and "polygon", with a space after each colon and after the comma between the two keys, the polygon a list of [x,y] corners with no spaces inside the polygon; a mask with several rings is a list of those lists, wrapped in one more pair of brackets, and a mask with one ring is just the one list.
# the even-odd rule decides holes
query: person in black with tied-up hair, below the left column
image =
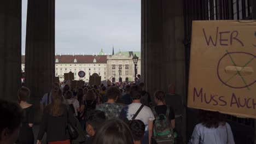
{"label": "person in black with tied-up hair, below the left column", "polygon": [[21,87],[18,91],[18,98],[20,106],[24,110],[25,118],[22,121],[18,143],[19,144],[33,144],[33,123],[34,123],[34,106],[27,103],[27,99],[30,97],[30,89],[27,87]]}

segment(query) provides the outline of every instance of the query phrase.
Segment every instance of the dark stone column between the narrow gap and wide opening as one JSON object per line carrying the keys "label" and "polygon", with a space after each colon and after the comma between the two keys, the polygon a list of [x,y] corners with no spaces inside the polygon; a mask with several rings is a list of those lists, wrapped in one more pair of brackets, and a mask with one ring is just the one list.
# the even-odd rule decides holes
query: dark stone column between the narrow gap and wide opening
{"label": "dark stone column between the narrow gap and wide opening", "polygon": [[[55,71],[55,0],[28,0],[25,75],[31,103],[39,113],[39,101],[51,90]],[[40,121],[37,116],[36,121]]]}

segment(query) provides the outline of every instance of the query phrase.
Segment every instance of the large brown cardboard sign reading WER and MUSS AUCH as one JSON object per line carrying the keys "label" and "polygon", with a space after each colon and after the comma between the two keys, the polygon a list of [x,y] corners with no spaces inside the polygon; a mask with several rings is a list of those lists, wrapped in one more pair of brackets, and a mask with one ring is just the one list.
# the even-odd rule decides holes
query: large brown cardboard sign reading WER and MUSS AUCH
{"label": "large brown cardboard sign reading WER and MUSS AUCH", "polygon": [[255,21],[193,21],[188,106],[256,118]]}

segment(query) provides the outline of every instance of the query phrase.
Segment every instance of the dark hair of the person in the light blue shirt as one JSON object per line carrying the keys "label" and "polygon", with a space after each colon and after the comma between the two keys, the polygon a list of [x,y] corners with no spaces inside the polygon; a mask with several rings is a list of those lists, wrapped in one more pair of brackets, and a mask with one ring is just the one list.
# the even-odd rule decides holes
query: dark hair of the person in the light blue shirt
{"label": "dark hair of the person in the light blue shirt", "polygon": [[218,111],[199,110],[198,119],[207,128],[218,128],[220,124],[225,125],[225,121]]}

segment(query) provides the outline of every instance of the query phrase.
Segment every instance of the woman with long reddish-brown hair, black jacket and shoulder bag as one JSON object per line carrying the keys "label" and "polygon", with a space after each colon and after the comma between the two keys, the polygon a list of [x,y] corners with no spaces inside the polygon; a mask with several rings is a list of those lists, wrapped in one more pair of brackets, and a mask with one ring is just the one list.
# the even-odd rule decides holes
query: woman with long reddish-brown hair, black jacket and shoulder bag
{"label": "woman with long reddish-brown hair, black jacket and shoulder bag", "polygon": [[47,134],[48,144],[70,144],[68,123],[75,125],[73,113],[66,104],[62,103],[62,92],[55,87],[51,95],[51,104],[45,107],[40,123],[37,144],[41,144],[44,133]]}

